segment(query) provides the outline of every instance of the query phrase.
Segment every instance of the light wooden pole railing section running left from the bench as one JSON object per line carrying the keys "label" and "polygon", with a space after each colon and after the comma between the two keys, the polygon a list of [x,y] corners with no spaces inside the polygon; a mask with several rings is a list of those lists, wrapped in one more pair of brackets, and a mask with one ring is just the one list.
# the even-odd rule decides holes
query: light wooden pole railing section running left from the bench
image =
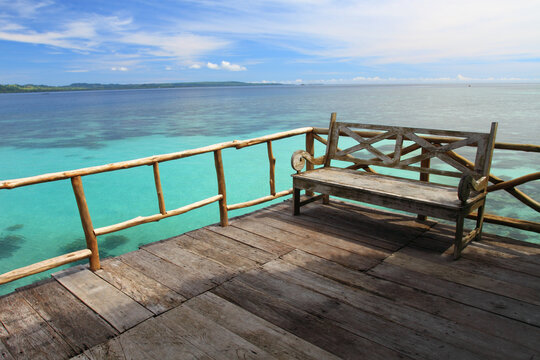
{"label": "light wooden pole railing section running left from the bench", "polygon": [[[97,236],[109,234],[115,231],[127,229],[136,225],[145,224],[153,221],[159,221],[161,219],[177,216],[184,214],[188,211],[200,208],[205,205],[212,204],[214,202],[219,202],[219,213],[220,213],[220,223],[222,226],[228,225],[228,211],[241,209],[257,204],[261,204],[266,201],[274,200],[282,196],[286,196],[292,193],[292,189],[276,192],[275,187],[275,163],[276,159],[272,153],[272,141],[284,139],[292,136],[302,135],[302,134],[311,134],[313,128],[299,128],[295,130],[285,131],[281,133],[276,133],[272,135],[262,136],[254,139],[244,140],[244,141],[229,141],[220,144],[210,145],[206,147],[201,147],[197,149],[185,150],[180,152],[175,152],[171,154],[156,155],[136,160],[117,162],[107,165],[88,167],[78,170],[63,171],[51,174],[43,174],[38,176],[32,176],[21,179],[5,180],[0,181],[0,189],[14,189],[21,186],[28,186],[34,184],[40,184],[50,181],[59,181],[59,180],[71,180],[73,193],[75,194],[75,200],[77,202],[77,207],[79,209],[79,215],[81,218],[81,224],[84,231],[84,236],[86,239],[86,249],[71,252],[64,254],[55,258],[47,259],[29,266],[25,266],[16,270],[12,270],[5,274],[0,275],[0,284],[4,284],[10,281],[14,281],[26,276],[37,274],[55,267],[69,264],[75,261],[82,259],[89,259],[90,269],[92,271],[98,270],[100,268],[99,262],[99,251]],[[250,200],[243,203],[228,205],[227,204],[227,192],[225,188],[225,173],[223,170],[223,162],[221,159],[221,151],[228,148],[242,149],[244,147],[253,146],[256,144],[266,143],[268,149],[268,159],[270,163],[270,195],[263,196],[258,199]],[[163,190],[161,188],[161,178],[159,174],[159,164],[165,161],[182,159],[190,156],[195,156],[199,154],[205,154],[213,152],[214,153],[214,163],[216,168],[216,176],[218,182],[218,194],[211,196],[207,199],[203,199],[192,204],[173,209],[167,210],[165,207],[165,199],[163,196]],[[90,211],[86,203],[86,197],[84,194],[82,177],[98,174],[108,171],[116,171],[121,169],[129,169],[138,166],[152,165],[154,172],[154,182],[156,187],[156,194],[158,199],[158,208],[159,213],[150,215],[150,216],[138,216],[134,219],[130,219],[118,224],[113,224],[101,228],[94,228],[92,224],[92,219],[90,217]]]}

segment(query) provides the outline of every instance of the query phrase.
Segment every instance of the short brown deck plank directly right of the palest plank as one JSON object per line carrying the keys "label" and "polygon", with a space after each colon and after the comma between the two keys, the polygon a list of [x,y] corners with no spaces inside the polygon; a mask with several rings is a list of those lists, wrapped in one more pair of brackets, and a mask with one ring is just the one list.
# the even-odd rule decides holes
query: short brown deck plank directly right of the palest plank
{"label": "short brown deck plank directly right of the palest plank", "polygon": [[186,300],[182,295],[115,258],[102,261],[101,270],[96,271],[96,275],[156,315]]}

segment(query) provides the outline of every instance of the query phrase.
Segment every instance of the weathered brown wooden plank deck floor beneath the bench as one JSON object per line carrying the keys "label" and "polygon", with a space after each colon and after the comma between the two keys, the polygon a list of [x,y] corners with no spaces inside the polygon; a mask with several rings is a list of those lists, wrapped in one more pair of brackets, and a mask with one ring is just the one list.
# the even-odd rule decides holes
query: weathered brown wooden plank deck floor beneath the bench
{"label": "weathered brown wooden plank deck floor beneath the bench", "polygon": [[[2,359],[538,359],[540,246],[285,202],[0,298]],[[451,249],[450,249],[451,250]]]}

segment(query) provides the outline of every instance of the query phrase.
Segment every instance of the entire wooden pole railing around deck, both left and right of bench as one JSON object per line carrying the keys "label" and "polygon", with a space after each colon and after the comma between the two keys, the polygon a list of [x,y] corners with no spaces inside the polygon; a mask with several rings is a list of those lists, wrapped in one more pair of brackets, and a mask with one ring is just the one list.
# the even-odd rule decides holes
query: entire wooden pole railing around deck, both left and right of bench
{"label": "entire wooden pole railing around deck, both left and right of bench", "polygon": [[[358,133],[363,137],[373,137],[378,134],[376,132],[358,132]],[[276,159],[272,151],[272,141],[284,139],[288,137],[293,137],[293,136],[298,136],[298,135],[303,135],[303,134],[306,134],[306,142],[305,142],[306,151],[312,156],[314,156],[315,140],[326,145],[326,139],[324,139],[320,135],[325,135],[325,134],[327,135],[328,129],[305,127],[305,128],[299,128],[295,130],[280,132],[280,133],[276,133],[272,135],[262,136],[258,138],[253,138],[249,140],[243,140],[243,141],[234,140],[234,141],[214,144],[214,145],[201,147],[197,149],[184,150],[184,151],[170,153],[170,154],[156,155],[156,156],[151,156],[151,157],[146,157],[146,158],[141,158],[141,159],[136,159],[136,160],[123,161],[123,162],[117,162],[117,163],[112,163],[112,164],[107,164],[107,165],[94,166],[94,167],[63,171],[63,172],[57,172],[57,173],[51,173],[51,174],[43,174],[39,176],[33,176],[33,177],[27,177],[27,178],[21,178],[21,179],[0,181],[0,190],[1,190],[1,189],[13,189],[13,188],[21,187],[21,186],[40,184],[40,183],[50,182],[50,181],[70,179],[72,188],[73,188],[73,193],[75,195],[75,200],[77,202],[77,207],[79,209],[79,215],[81,218],[81,224],[82,224],[83,231],[85,234],[86,247],[87,247],[86,249],[78,250],[78,251],[64,254],[58,257],[47,259],[47,260],[44,260],[44,261],[41,261],[32,265],[25,266],[25,267],[7,272],[5,274],[2,274],[0,275],[0,284],[14,281],[14,280],[26,277],[26,276],[40,273],[40,272],[43,272],[43,271],[46,271],[55,267],[59,267],[61,265],[79,261],[82,259],[89,259],[90,269],[95,271],[100,268],[97,236],[109,234],[111,232],[123,230],[123,229],[140,225],[140,224],[159,221],[167,217],[184,214],[188,211],[197,209],[205,205],[212,204],[214,202],[219,202],[220,224],[222,226],[227,226],[228,225],[228,211],[261,204],[261,203],[271,201],[271,200],[274,200],[274,199],[277,199],[277,198],[280,198],[280,197],[283,197],[292,193],[292,189],[276,192],[276,186],[275,186]],[[431,140],[435,139],[439,141],[440,143],[446,143],[448,141],[455,141],[455,140],[444,138],[444,137],[430,136],[429,138]],[[242,149],[244,147],[249,147],[249,146],[253,146],[253,145],[257,145],[261,143],[266,143],[267,145],[267,153],[268,153],[268,160],[269,160],[270,194],[267,196],[250,200],[250,201],[229,205],[227,203],[227,192],[226,192],[226,187],[225,187],[225,173],[223,169],[221,151],[228,148]],[[538,145],[495,143],[495,148],[515,150],[515,151],[540,152],[540,146]],[[417,144],[404,147],[403,149],[401,149],[401,155],[406,155],[417,149],[419,149],[419,146]],[[182,159],[182,158],[191,157],[191,156],[195,156],[199,154],[210,153],[210,152],[214,153],[214,163],[215,163],[216,177],[217,177],[217,183],[218,183],[217,195],[211,196],[207,199],[203,199],[189,205],[185,205],[177,209],[167,210],[165,206],[163,190],[161,187],[159,164],[166,161]],[[393,154],[392,153],[387,154],[387,156],[393,157]],[[451,156],[453,156],[456,160],[462,162],[462,164],[464,164],[465,166],[470,166],[470,164],[467,162],[468,160],[465,158],[462,158],[458,154],[452,153]],[[322,158],[319,158],[319,160],[322,160]],[[90,211],[86,203],[82,177],[92,175],[92,174],[98,174],[98,173],[103,173],[103,172],[108,172],[108,171],[116,171],[116,170],[121,170],[121,169],[129,169],[129,168],[145,166],[145,165],[146,166],[152,165],[153,167],[154,182],[155,182],[156,195],[157,195],[157,200],[158,200],[159,213],[150,215],[150,216],[139,216],[134,219],[130,219],[130,220],[118,223],[118,224],[113,224],[113,225],[109,225],[109,226],[105,226],[101,228],[94,228],[91,217],[90,217]],[[308,162],[306,166],[307,166],[307,170],[313,169],[313,164],[310,162]],[[422,164],[422,166],[429,166],[429,162],[426,161],[425,163]],[[365,165],[362,166],[362,165],[355,164],[355,165],[350,166],[350,168],[355,168],[355,169],[364,168],[364,170],[366,171],[374,171],[373,169]],[[421,173],[420,179],[423,181],[428,181],[429,177],[427,175],[428,174]],[[533,200],[532,198],[524,194],[521,190],[518,190],[515,188],[517,185],[521,185],[529,181],[537,180],[539,178],[540,178],[540,172],[525,175],[525,176],[522,176],[513,180],[508,180],[508,181],[503,181],[502,179],[494,175],[490,175],[490,181],[494,185],[489,187],[488,191],[505,190],[509,192],[510,194],[512,194],[514,197],[516,197],[518,200],[520,200],[523,204],[535,209],[537,212],[540,212],[540,204],[537,201]],[[307,192],[306,195],[310,196],[313,194]],[[321,196],[313,197],[311,198],[311,200],[307,200],[307,201],[308,202],[313,201],[320,197]],[[484,221],[500,224],[500,225],[511,226],[511,227],[515,227],[515,228],[519,228],[523,230],[540,232],[540,223],[534,222],[534,221],[512,219],[512,218],[502,217],[502,216],[497,216],[497,215],[492,215],[492,214],[486,214]]]}

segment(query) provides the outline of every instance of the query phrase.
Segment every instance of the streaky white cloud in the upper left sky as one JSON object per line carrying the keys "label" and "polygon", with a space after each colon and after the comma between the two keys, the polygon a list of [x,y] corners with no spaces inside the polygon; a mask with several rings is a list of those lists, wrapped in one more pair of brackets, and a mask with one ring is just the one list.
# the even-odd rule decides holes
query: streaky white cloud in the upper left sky
{"label": "streaky white cloud in the upper left sky", "polygon": [[[11,2],[0,0],[0,8],[9,3]],[[140,24],[135,24],[131,17],[125,16],[87,13],[66,16],[60,11],[53,11],[43,16],[50,18],[49,23],[38,28],[33,22],[25,21],[18,13],[28,4],[27,13],[33,14],[49,2],[24,0],[15,1],[14,4],[16,6],[11,6],[11,13],[0,12],[0,40],[47,45],[72,51],[102,54],[123,52],[180,61],[193,61],[230,44],[219,37],[198,35],[183,29],[154,28],[149,31]],[[33,6],[30,6],[31,4]]]}

